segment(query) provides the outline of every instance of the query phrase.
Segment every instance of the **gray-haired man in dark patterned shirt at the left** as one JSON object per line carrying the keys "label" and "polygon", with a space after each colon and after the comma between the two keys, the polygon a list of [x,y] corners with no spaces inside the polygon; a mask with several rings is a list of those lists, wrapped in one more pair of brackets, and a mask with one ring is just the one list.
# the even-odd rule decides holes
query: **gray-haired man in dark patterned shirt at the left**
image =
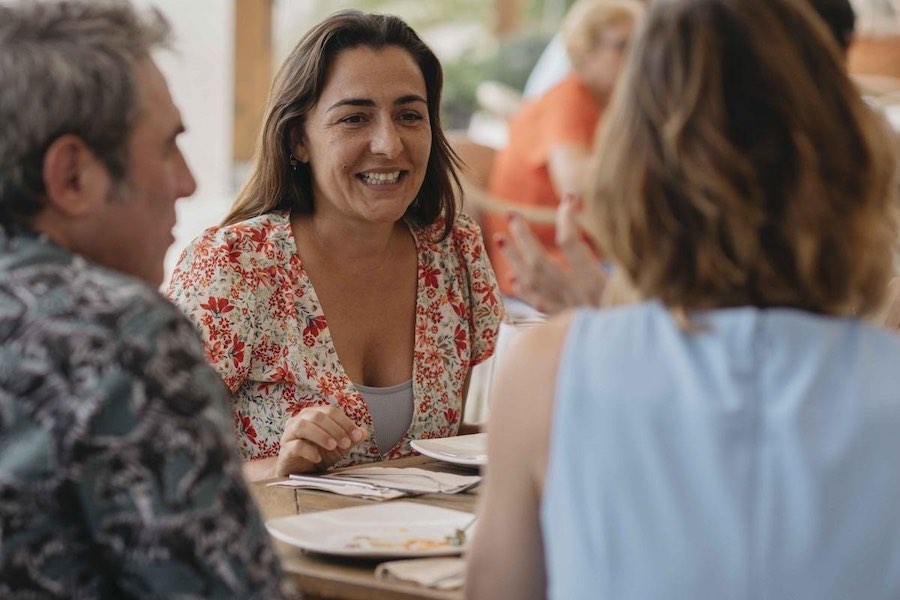
{"label": "gray-haired man in dark patterned shirt at the left", "polygon": [[228,393],[156,289],[195,183],[122,1],[0,4],[0,597],[279,598]]}

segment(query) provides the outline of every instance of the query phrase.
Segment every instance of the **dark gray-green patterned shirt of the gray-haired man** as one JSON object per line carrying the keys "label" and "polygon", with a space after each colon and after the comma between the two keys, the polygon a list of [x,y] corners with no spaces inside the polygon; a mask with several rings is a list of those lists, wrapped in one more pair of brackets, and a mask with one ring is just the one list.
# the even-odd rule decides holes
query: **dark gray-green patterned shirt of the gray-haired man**
{"label": "dark gray-green patterned shirt of the gray-haired man", "polygon": [[228,394],[157,292],[0,228],[0,598],[279,598]]}

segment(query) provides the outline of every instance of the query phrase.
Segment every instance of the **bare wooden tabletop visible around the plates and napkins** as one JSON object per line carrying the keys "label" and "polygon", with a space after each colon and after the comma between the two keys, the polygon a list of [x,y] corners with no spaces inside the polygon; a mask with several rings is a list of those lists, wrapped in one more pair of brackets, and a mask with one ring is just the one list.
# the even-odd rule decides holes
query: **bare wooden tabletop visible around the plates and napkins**
{"label": "bare wooden tabletop visible around the plates and napkins", "polygon": [[[371,466],[371,465],[364,465]],[[423,456],[379,463],[385,467],[419,467],[422,469],[472,474],[453,465]],[[352,467],[351,467],[352,469]],[[251,491],[264,519],[299,513],[359,506],[371,500],[339,496],[315,490],[269,487],[267,482],[254,483]],[[401,498],[456,510],[475,512],[477,489],[462,494],[426,494]],[[390,502],[390,500],[388,501]],[[304,600],[459,600],[462,590],[440,591],[412,583],[388,582],[375,579],[375,567],[380,560],[358,560],[346,557],[326,557],[306,554],[299,548],[275,540],[281,564],[303,593]]]}

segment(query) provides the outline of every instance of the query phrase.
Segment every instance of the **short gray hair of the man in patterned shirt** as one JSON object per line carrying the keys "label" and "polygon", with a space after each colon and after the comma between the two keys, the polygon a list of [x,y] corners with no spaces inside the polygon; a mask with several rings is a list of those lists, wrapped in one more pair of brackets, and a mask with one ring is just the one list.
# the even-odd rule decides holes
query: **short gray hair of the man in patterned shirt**
{"label": "short gray hair of the man in patterned shirt", "polygon": [[165,17],[128,0],[0,2],[0,224],[41,210],[44,154],[62,135],[125,178],[135,67],[169,41]]}

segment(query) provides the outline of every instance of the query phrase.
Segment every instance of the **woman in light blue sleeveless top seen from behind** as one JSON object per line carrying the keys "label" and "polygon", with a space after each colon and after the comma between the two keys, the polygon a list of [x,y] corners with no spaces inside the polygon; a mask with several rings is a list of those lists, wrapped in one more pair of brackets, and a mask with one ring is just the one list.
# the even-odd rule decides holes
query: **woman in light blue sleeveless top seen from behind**
{"label": "woman in light blue sleeveless top seen from behind", "polygon": [[501,363],[468,596],[900,598],[884,130],[805,2],[657,2],[620,83],[588,205],[643,302]]}

